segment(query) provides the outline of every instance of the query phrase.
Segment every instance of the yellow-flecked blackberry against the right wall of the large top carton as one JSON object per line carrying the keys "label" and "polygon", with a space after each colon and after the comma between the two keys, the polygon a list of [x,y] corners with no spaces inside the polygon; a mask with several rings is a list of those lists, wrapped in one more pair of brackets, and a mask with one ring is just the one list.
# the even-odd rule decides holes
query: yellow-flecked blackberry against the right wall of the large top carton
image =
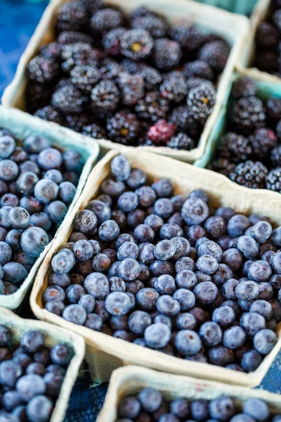
{"label": "yellow-flecked blackberry against the right wall of the large top carton", "polygon": [[190,89],[187,104],[191,115],[197,120],[206,119],[216,103],[216,91],[210,84],[201,84]]}

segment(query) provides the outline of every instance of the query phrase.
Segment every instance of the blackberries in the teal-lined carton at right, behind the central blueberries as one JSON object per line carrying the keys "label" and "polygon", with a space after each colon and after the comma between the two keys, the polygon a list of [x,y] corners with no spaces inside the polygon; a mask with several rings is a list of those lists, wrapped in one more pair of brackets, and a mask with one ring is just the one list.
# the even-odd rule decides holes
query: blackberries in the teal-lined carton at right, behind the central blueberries
{"label": "blackberries in the teal-lined carton at right, behind the central blueberries", "polygon": [[226,134],[209,168],[247,188],[281,193],[281,98],[264,101],[253,79],[237,79]]}

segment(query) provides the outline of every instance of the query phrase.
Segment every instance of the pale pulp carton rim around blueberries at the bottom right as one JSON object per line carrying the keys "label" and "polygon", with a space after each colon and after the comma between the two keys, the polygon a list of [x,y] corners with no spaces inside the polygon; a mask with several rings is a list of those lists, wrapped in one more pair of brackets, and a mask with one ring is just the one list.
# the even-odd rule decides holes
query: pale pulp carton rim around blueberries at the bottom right
{"label": "pale pulp carton rim around blueberries at the bottom right", "polygon": [[237,408],[242,407],[247,399],[263,399],[267,402],[271,414],[281,413],[280,396],[270,392],[202,381],[187,376],[170,375],[138,366],[127,366],[112,373],[97,422],[115,422],[120,400],[128,395],[138,394],[147,387],[155,388],[161,392],[164,399],[168,400],[176,397],[211,400],[221,395],[228,395],[235,400]]}

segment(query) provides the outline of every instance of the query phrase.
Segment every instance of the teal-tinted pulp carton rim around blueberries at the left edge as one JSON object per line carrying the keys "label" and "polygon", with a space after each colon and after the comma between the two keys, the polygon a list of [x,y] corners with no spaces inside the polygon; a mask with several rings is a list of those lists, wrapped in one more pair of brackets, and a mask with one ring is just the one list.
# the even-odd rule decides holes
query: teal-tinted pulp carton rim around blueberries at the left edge
{"label": "teal-tinted pulp carton rim around blueberries at the left edge", "polygon": [[[33,117],[20,110],[13,110],[12,108],[6,108],[4,106],[0,106],[0,128],[10,130],[13,136],[15,136],[15,139],[19,141],[23,141],[23,139],[32,134],[40,134],[50,139],[52,145],[57,148],[65,149],[65,151],[67,148],[72,148],[83,155],[86,163],[83,171],[81,172],[76,195],[65,217],[66,222],[69,218],[72,207],[79,198],[86,179],[89,176],[96,159],[98,158],[98,144],[93,143],[88,137],[77,134],[70,129],[59,127],[57,124],[50,122],[44,122],[44,120],[41,120],[38,117]],[[61,229],[62,225],[56,232],[55,238],[60,236]],[[25,279],[20,288],[12,295],[0,295],[0,306],[7,307],[9,309],[16,309],[20,306],[28,289],[34,281],[34,276],[37,273],[41,262],[43,262],[46,252],[51,248],[52,242],[53,241],[46,246],[44,251],[37,258],[27,276],[27,279]]]}

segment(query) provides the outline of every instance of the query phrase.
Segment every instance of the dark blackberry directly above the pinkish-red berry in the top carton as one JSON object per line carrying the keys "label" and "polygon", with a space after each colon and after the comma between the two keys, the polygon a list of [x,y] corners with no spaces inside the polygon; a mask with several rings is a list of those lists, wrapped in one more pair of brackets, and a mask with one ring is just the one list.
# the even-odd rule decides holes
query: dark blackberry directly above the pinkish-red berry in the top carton
{"label": "dark blackberry directly above the pinkish-red berry in the top carton", "polygon": [[135,110],[140,119],[157,122],[159,119],[166,118],[169,101],[160,96],[157,91],[150,91],[145,94],[144,98],[138,100]]}

